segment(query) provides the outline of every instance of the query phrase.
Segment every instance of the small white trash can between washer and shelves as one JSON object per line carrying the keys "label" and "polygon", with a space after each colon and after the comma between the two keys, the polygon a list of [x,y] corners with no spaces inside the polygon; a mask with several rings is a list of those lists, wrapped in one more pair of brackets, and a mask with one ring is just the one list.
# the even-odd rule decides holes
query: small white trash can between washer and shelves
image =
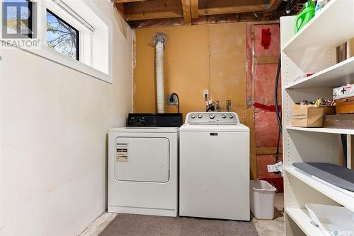
{"label": "small white trash can between washer and shelves", "polygon": [[273,220],[275,187],[264,180],[251,180],[251,211],[258,220]]}

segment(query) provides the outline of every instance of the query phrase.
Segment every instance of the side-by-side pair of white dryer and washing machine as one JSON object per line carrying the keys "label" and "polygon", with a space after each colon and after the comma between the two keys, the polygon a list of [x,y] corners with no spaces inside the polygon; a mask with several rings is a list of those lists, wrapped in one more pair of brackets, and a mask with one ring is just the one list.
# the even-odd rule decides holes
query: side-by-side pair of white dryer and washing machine
{"label": "side-by-side pair of white dryer and washing machine", "polygon": [[[108,211],[250,220],[249,128],[234,112],[129,114],[109,130]],[[181,127],[179,127],[181,126]]]}

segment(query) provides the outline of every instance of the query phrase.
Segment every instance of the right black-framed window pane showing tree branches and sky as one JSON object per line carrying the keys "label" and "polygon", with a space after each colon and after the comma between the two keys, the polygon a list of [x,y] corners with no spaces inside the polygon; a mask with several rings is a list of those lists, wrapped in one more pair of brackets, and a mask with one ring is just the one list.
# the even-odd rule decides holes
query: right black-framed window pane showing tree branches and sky
{"label": "right black-framed window pane showing tree branches and sky", "polygon": [[47,46],[80,60],[79,30],[47,9]]}

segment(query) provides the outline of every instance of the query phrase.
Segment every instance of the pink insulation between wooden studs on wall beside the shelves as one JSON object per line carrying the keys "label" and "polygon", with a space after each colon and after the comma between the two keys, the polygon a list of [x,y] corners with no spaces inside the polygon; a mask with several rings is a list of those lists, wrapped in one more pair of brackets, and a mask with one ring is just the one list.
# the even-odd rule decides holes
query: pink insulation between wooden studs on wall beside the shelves
{"label": "pink insulation between wooden studs on wall beside the shelves", "polygon": [[[262,46],[262,30],[270,30],[270,45]],[[269,36],[269,35],[268,35]],[[255,102],[274,105],[275,75],[280,56],[280,26],[278,23],[257,25],[248,23],[246,28],[247,52],[247,105]],[[267,37],[267,40],[269,38]],[[263,37],[264,40],[264,37]],[[265,63],[265,61],[267,63]],[[269,61],[269,62],[268,62]],[[281,85],[278,88],[278,101],[281,104]],[[278,145],[279,126],[275,112],[254,109],[254,130],[256,148],[275,148]],[[280,147],[282,146],[280,136]],[[275,163],[275,154],[257,155],[258,179],[278,179],[280,175],[269,173],[268,164]]]}

